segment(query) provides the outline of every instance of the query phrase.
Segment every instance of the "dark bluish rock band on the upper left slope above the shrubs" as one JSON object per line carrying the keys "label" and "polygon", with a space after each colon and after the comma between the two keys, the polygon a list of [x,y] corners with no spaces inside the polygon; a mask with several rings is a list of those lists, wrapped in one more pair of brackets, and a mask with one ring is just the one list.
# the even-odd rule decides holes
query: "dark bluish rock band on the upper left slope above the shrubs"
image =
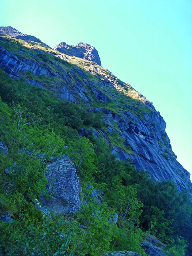
{"label": "dark bluish rock band on the upper left slope above the shrubs", "polygon": [[[50,65],[44,62],[40,62],[37,59],[27,59],[16,56],[13,53],[8,52],[5,48],[0,46],[0,67],[3,67],[5,72],[14,79],[19,79],[22,76],[26,78],[26,73],[30,72],[34,76],[47,76],[49,78],[57,78],[60,80],[57,82],[57,86],[54,87],[59,98],[78,103],[77,98],[81,98],[85,104],[90,106],[91,99],[87,95],[85,84],[89,84],[86,72],[82,69],[74,67],[69,69],[66,73],[59,64],[57,68],[60,71],[55,72],[50,68]],[[78,76],[83,78],[83,82],[79,80]],[[41,84],[34,79],[26,78],[26,82],[38,87],[45,87],[47,89],[53,89],[53,83]],[[92,84],[93,82],[91,82]],[[94,84],[94,83],[93,83]]]}

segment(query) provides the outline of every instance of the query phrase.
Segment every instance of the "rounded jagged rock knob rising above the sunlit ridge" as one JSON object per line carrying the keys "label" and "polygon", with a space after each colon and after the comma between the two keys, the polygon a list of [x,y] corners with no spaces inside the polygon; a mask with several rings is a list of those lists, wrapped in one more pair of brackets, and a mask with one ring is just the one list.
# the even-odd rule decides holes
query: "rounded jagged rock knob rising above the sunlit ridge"
{"label": "rounded jagged rock knob rising above the sunlit ridge", "polygon": [[61,42],[53,49],[70,56],[76,56],[85,60],[93,61],[101,66],[101,60],[98,51],[90,44],[80,42],[76,45],[68,45],[65,42]]}

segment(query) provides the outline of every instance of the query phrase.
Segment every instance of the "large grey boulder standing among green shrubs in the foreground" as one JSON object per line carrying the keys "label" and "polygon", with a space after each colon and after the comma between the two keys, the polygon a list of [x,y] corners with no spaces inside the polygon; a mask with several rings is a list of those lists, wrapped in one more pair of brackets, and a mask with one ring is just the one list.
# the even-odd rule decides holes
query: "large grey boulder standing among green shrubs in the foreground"
{"label": "large grey boulder standing among green shrubs in the foreground", "polygon": [[46,214],[49,210],[63,214],[78,211],[81,205],[79,197],[81,185],[75,165],[69,157],[63,155],[53,159],[47,169],[47,191],[51,198],[45,199],[42,211]]}

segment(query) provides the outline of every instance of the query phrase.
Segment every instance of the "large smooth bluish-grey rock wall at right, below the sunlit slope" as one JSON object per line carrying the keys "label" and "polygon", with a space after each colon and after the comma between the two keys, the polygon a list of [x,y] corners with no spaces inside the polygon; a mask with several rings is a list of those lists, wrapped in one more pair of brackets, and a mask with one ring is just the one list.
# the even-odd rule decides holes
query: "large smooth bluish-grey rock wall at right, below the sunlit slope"
{"label": "large smooth bluish-grey rock wall at right, below the sunlit slope", "polygon": [[128,160],[139,170],[148,170],[150,177],[155,181],[171,179],[179,190],[191,189],[190,174],[176,160],[165,132],[166,123],[159,112],[144,113],[141,119],[128,110],[121,111],[120,114],[101,108],[91,111],[105,114],[108,131],[102,133],[106,138],[118,131],[124,148],[114,145],[111,147],[117,159]]}

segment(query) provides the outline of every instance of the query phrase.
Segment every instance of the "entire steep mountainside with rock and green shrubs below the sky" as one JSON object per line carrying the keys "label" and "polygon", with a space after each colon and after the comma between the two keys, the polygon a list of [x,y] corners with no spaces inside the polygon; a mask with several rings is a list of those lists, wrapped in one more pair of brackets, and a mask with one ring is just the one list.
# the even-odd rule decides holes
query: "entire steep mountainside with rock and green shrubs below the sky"
{"label": "entire steep mountainside with rock and green shrubs below the sky", "polygon": [[93,46],[0,27],[0,255],[191,256],[165,128]]}

